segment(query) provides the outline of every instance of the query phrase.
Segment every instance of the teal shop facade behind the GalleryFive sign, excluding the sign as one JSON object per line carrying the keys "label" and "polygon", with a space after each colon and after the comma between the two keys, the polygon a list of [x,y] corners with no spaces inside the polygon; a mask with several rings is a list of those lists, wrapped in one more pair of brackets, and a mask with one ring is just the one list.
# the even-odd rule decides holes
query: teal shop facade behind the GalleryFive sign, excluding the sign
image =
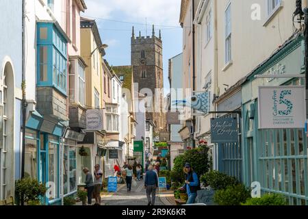
{"label": "teal shop facade behind the GalleryFive sign, excluding the sign", "polygon": [[304,85],[305,78],[296,77],[305,72],[304,51],[303,35],[294,34],[242,83],[242,181],[248,187],[257,181],[261,194],[282,194],[290,205],[308,205],[307,136],[304,128],[259,129],[260,114],[270,112],[258,112],[258,89]]}

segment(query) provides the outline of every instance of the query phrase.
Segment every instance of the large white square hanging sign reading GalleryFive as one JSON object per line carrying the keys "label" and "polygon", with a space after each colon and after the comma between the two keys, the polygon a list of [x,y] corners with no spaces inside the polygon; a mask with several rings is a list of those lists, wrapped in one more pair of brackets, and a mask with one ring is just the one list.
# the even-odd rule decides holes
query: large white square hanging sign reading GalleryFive
{"label": "large white square hanging sign reading GalleryFive", "polygon": [[259,129],[305,128],[303,86],[260,86]]}

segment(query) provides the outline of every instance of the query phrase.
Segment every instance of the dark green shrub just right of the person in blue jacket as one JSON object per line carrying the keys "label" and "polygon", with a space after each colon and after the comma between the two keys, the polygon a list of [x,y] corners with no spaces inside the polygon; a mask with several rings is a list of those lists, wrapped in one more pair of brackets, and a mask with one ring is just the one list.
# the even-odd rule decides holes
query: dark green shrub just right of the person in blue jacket
{"label": "dark green shrub just right of the person in blue jacket", "polygon": [[216,170],[209,171],[202,175],[200,181],[203,185],[210,186],[213,190],[224,190],[229,185],[238,185],[240,182],[235,177],[230,177]]}

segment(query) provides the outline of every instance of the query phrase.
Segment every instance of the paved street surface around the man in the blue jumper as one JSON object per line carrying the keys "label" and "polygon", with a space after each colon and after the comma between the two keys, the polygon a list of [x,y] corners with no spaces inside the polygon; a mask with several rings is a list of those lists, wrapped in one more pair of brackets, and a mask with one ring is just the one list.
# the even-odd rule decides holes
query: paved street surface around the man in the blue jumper
{"label": "paved street surface around the man in the blue jumper", "polygon": [[[147,205],[144,181],[137,181],[137,186],[131,186],[131,192],[127,192],[126,185],[119,185],[121,188],[116,193],[103,196],[101,205]],[[157,192],[158,193],[158,192]],[[155,205],[164,205],[156,193]]]}

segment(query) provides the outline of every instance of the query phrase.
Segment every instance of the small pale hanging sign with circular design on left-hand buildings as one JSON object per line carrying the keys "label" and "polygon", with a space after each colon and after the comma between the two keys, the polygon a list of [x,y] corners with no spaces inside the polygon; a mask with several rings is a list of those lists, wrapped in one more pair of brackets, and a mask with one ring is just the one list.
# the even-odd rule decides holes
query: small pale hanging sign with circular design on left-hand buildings
{"label": "small pale hanging sign with circular design on left-hand buildings", "polygon": [[103,110],[87,110],[86,129],[89,131],[103,130]]}

